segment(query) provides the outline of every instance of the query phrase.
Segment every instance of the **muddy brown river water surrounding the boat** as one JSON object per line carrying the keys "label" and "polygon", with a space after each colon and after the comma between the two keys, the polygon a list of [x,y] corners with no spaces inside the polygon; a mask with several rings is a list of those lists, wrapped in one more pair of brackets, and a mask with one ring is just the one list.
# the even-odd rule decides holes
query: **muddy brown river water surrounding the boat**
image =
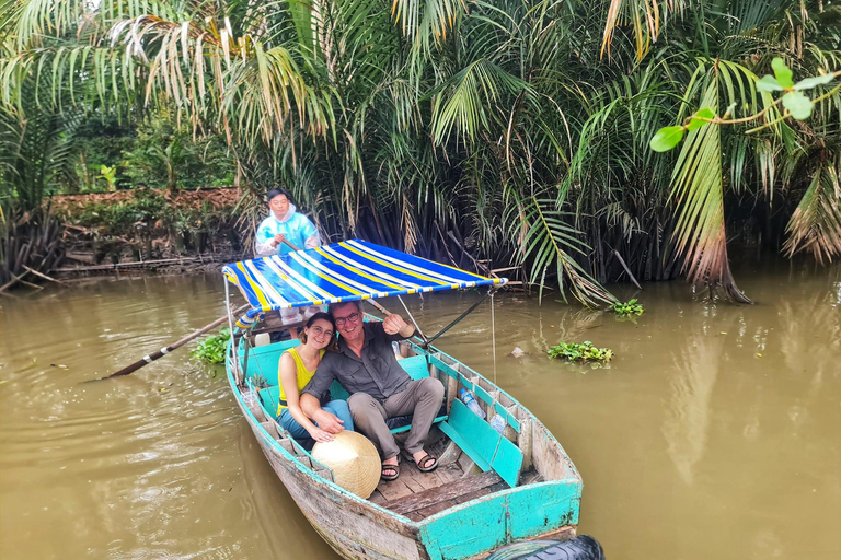
{"label": "muddy brown river water surrounding the boat", "polygon": [[[497,295],[496,373],[487,304],[440,340],[557,436],[584,477],[579,533],[611,560],[841,558],[841,268],[737,278],[757,305],[648,284],[635,323]],[[0,300],[0,558],[335,558],[221,370],[182,349],[80,384],[218,317],[221,285],[95,280]],[[477,296],[407,303],[434,332]],[[617,358],[550,360],[562,339]]]}

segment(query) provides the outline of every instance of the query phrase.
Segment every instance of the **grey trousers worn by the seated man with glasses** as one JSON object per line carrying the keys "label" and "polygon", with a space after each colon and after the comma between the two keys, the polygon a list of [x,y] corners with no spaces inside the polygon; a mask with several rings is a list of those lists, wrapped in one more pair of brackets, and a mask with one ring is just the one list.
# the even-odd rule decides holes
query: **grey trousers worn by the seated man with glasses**
{"label": "grey trousers worn by the seated man with glasses", "polygon": [[443,401],[443,385],[435,377],[413,380],[408,386],[380,402],[367,393],[354,393],[347,399],[354,429],[364,433],[377,446],[383,460],[400,453],[394,434],[385,425],[385,419],[395,416],[413,415],[412,429],[403,442],[408,453],[424,448],[435,415]]}

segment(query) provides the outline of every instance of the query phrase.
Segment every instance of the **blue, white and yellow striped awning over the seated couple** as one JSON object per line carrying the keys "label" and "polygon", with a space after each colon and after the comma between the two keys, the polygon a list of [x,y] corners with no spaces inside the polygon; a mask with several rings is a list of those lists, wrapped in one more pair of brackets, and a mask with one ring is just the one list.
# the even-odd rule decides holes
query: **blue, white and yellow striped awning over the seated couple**
{"label": "blue, white and yellow striped awning over the seated couple", "polygon": [[507,281],[360,240],[233,262],[222,268],[222,273],[251,304],[240,326],[273,310],[502,285]]}

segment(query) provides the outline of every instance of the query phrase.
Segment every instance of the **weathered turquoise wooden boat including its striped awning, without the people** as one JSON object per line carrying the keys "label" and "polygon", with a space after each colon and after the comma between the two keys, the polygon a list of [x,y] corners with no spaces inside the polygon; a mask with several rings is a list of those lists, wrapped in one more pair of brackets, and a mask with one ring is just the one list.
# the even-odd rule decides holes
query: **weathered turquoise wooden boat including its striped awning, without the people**
{"label": "weathered turquoise wooden boat including its striped awning, without the people", "polygon": [[[389,266],[375,272],[379,270],[370,266],[375,260]],[[310,268],[299,268],[302,262]],[[324,267],[315,266],[319,262]],[[327,265],[335,268],[327,269]],[[413,378],[431,375],[446,387],[446,415],[436,419],[426,446],[439,457],[434,472],[422,474],[403,462],[396,480],[380,481],[373,494],[364,499],[337,486],[332,470],[275,421],[278,361],[297,341],[253,346],[252,325],[262,313],[443,289],[420,283],[416,275],[437,279],[448,284],[447,289],[493,289],[505,281],[450,267],[440,272],[436,267],[443,265],[352,241],[224,268],[229,282],[253,303],[239,319],[238,336],[229,345],[227,371],[233,395],[272,468],[303,515],[344,558],[484,558],[511,542],[575,536],[581,477],[557,440],[512,396],[420,338],[400,343],[403,359],[399,363]],[[354,271],[364,273],[354,276]],[[338,289],[319,275],[354,290],[335,293]],[[357,281],[362,277],[370,278]],[[401,285],[401,281],[408,285],[388,293],[375,281],[385,277],[392,287]],[[458,281],[452,281],[453,277]],[[313,288],[319,285],[332,291],[325,294]],[[369,290],[364,291],[362,285]],[[309,293],[290,292],[303,287]],[[277,293],[269,293],[273,290]],[[370,315],[367,319],[378,320]],[[230,320],[233,327],[235,318]],[[487,420],[497,415],[504,419],[503,433],[458,399],[461,388],[475,394]],[[334,398],[347,395],[337,384],[331,392]],[[404,425],[392,432],[407,430]]]}

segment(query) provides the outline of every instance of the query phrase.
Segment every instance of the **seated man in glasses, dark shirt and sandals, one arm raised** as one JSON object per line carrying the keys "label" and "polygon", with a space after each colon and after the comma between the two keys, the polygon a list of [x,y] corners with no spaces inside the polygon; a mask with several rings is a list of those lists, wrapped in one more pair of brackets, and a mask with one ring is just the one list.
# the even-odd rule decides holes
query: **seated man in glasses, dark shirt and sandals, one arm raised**
{"label": "seated man in glasses, dark shirt and sandals, one arm raised", "polygon": [[319,398],[337,380],[350,394],[347,399],[354,427],[370,439],[382,458],[382,478],[400,476],[400,446],[385,420],[412,415],[412,429],[403,443],[404,456],[423,472],[435,470],[438,459],[424,451],[435,416],[443,401],[443,385],[435,377],[412,380],[400,366],[391,342],[415,334],[400,315],[382,323],[362,320],[361,302],[334,303],[330,313],[338,330],[338,352],[324,354],[310,384],[301,394],[301,408],[319,428],[342,431],[342,420],[321,409]]}

